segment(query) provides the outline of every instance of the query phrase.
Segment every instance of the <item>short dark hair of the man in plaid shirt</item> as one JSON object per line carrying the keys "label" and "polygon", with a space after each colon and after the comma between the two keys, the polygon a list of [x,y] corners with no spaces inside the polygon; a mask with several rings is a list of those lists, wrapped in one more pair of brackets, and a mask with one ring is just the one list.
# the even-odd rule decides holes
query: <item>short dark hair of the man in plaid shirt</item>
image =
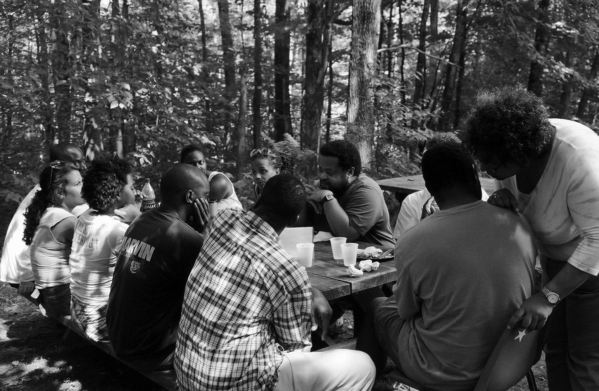
{"label": "short dark hair of the man in plaid shirt", "polygon": [[304,208],[305,187],[295,175],[283,172],[271,177],[261,193],[261,207],[280,223],[288,223]]}

